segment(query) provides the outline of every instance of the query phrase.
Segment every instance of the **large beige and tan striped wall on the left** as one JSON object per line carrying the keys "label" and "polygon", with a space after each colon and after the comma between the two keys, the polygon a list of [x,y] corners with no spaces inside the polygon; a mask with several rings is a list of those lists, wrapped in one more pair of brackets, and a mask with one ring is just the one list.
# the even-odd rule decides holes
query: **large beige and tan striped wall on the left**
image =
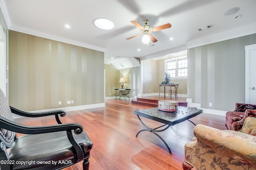
{"label": "large beige and tan striped wall on the left", "polygon": [[104,103],[100,51],[9,31],[9,77],[9,104],[24,111]]}

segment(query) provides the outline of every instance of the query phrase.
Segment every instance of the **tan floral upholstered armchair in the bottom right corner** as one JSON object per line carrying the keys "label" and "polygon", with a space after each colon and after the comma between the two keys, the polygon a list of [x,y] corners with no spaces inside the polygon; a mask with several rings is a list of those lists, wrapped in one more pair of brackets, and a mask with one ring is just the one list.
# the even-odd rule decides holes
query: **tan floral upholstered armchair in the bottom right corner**
{"label": "tan floral upholstered armchair in the bottom right corner", "polygon": [[247,117],[240,131],[196,125],[185,145],[184,170],[256,170],[256,117]]}

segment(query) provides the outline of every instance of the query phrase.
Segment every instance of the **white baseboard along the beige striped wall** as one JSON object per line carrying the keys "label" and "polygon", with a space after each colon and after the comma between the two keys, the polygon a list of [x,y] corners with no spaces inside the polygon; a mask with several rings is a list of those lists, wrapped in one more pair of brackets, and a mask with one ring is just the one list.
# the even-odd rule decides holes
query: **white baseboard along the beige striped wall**
{"label": "white baseboard along the beige striped wall", "polygon": [[[36,111],[29,111],[29,112],[47,112],[47,111],[56,111],[56,110],[62,110],[62,111],[74,111],[74,110],[82,110],[82,109],[90,109],[90,108],[95,108],[95,107],[104,107],[105,103],[100,103],[100,104],[89,104],[89,105],[83,105],[83,106],[72,106],[72,107],[61,107],[61,108],[55,108],[55,109],[45,109],[45,110],[36,110]],[[23,116],[16,115],[12,113],[12,117],[14,119],[20,118]]]}

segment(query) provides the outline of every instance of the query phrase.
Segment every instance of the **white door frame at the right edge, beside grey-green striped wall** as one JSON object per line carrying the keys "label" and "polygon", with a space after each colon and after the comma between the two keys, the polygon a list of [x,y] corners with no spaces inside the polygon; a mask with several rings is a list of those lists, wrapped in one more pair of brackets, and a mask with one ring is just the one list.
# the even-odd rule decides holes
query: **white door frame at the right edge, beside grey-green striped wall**
{"label": "white door frame at the right edge, beside grey-green striped wall", "polygon": [[245,46],[245,103],[250,103],[250,51],[256,49],[256,44]]}

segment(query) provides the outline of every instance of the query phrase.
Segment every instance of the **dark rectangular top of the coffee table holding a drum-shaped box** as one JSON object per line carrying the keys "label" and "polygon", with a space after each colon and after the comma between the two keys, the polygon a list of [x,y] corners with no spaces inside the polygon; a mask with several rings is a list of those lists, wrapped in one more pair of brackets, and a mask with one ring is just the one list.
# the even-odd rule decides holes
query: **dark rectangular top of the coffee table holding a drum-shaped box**
{"label": "dark rectangular top of the coffee table holding a drum-shaped box", "polygon": [[154,107],[150,109],[136,110],[134,111],[134,114],[168,125],[176,125],[182,121],[195,117],[202,112],[202,109],[178,106],[178,111],[175,112],[161,111],[158,110],[158,107]]}

